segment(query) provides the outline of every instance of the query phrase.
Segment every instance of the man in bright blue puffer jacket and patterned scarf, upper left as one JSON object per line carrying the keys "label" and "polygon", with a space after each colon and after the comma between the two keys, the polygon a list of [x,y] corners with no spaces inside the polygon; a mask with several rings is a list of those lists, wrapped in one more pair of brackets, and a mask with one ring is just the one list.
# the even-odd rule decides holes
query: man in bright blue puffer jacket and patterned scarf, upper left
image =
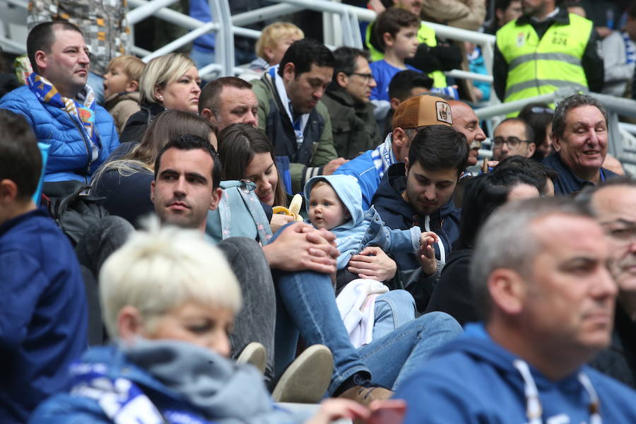
{"label": "man in bright blue puffer jacket and patterned scarf, upper left", "polygon": [[34,71],[26,86],[0,100],[0,109],[23,115],[37,141],[49,144],[45,182],[88,182],[119,139],[86,86],[90,59],[81,30],[61,21],[36,25],[27,52]]}

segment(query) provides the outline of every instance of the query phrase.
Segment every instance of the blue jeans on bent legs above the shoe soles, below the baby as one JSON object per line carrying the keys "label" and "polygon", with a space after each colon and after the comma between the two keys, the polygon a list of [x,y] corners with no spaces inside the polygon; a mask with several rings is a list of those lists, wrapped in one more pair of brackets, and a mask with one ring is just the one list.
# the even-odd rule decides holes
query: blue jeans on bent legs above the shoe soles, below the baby
{"label": "blue jeans on bent legs above the shoe soles, below the baby", "polygon": [[355,349],[336,307],[328,276],[312,271],[275,271],[275,374],[281,375],[295,357],[298,335],[307,345],[322,343],[334,354],[329,394],[357,372],[367,372],[375,384],[395,388],[430,358],[432,351],[462,333],[444,312],[432,312],[399,326],[382,338]]}

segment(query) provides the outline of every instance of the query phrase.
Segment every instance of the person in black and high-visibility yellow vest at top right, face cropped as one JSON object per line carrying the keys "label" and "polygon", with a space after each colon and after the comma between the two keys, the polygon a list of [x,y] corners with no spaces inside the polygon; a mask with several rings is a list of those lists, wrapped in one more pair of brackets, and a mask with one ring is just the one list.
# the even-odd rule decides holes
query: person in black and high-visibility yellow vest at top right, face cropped
{"label": "person in black and high-visibility yellow vest at top right, face cropped", "polygon": [[555,0],[524,0],[524,14],[497,31],[493,86],[502,102],[558,88],[600,92],[603,59],[594,25]]}

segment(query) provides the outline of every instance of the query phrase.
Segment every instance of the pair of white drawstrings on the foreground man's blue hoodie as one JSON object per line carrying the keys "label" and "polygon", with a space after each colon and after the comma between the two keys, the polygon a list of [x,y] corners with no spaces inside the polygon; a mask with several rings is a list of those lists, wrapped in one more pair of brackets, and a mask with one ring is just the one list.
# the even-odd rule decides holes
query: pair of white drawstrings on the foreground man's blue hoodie
{"label": "pair of white drawstrings on the foreground man's blue hoodie", "polygon": [[[526,361],[521,359],[514,360],[512,365],[519,370],[519,374],[521,374],[524,379],[526,417],[529,420],[528,424],[542,424],[543,420],[541,420],[541,415],[543,414],[543,411],[541,408],[541,401],[538,398],[538,389],[536,388],[536,384],[532,378],[530,367]],[[589,424],[602,424],[603,420],[601,419],[600,413],[601,401],[599,400],[599,395],[596,394],[596,390],[591,384],[589,377],[587,377],[587,374],[579,372],[579,382],[582,384],[585,391],[587,391],[587,394],[589,394]]]}

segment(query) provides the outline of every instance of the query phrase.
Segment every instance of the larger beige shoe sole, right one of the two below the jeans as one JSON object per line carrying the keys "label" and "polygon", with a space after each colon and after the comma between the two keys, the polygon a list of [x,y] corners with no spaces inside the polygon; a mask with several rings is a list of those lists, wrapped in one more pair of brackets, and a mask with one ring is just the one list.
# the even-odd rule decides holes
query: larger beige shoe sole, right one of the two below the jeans
{"label": "larger beige shoe sole, right one of the two below the jeans", "polygon": [[324,345],[305,349],[291,363],[271,392],[275,402],[317,404],[326,393],[334,372],[334,356]]}

